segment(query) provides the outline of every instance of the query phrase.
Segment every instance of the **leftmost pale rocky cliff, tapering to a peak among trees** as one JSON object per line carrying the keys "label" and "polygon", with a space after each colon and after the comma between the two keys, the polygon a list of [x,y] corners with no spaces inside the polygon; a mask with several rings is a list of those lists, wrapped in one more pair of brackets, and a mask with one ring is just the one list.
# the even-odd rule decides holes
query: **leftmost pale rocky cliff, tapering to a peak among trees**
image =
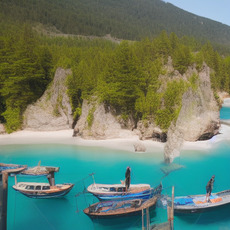
{"label": "leftmost pale rocky cliff, tapering to a peak among trees", "polygon": [[69,74],[71,70],[56,70],[53,82],[43,96],[27,107],[24,113],[24,129],[48,131],[72,128],[72,109],[65,84]]}

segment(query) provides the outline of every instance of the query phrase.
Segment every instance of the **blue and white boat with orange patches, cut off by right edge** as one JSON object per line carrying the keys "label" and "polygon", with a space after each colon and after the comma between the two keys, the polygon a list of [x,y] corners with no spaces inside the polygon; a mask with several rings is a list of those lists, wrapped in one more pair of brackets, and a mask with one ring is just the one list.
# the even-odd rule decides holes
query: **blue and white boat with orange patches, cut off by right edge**
{"label": "blue and white boat with orange patches, cut off by right edge", "polygon": [[227,204],[230,204],[230,190],[213,193],[209,202],[206,202],[206,195],[175,197],[174,211],[178,213],[196,213],[212,210]]}

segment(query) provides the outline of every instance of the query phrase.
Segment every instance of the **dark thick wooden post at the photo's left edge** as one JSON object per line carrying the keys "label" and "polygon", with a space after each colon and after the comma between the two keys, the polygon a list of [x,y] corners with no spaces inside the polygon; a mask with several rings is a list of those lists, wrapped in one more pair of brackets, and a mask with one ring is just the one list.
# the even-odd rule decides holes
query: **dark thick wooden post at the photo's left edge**
{"label": "dark thick wooden post at the photo's left edge", "polygon": [[1,223],[0,230],[7,229],[7,190],[8,190],[8,173],[2,172],[2,213],[1,213]]}

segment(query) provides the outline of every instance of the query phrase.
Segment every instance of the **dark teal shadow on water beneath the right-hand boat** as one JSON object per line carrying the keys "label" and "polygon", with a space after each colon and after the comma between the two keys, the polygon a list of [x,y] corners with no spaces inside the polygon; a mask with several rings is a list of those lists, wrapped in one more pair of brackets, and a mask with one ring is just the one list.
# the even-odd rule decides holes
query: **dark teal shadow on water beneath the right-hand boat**
{"label": "dark teal shadow on water beneath the right-hand boat", "polygon": [[189,224],[206,225],[228,220],[229,213],[230,204],[200,213],[175,213],[175,216]]}

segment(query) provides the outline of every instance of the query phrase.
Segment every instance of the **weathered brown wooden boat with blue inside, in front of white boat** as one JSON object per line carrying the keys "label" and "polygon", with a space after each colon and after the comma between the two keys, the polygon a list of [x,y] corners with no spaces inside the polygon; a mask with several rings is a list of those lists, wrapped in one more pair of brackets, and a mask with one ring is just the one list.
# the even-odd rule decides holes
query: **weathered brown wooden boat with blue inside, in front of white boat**
{"label": "weathered brown wooden boat with blue inside, in front of white boat", "polygon": [[123,201],[98,202],[84,209],[84,213],[91,218],[121,217],[141,214],[143,209],[154,208],[157,196],[150,199],[134,199]]}

